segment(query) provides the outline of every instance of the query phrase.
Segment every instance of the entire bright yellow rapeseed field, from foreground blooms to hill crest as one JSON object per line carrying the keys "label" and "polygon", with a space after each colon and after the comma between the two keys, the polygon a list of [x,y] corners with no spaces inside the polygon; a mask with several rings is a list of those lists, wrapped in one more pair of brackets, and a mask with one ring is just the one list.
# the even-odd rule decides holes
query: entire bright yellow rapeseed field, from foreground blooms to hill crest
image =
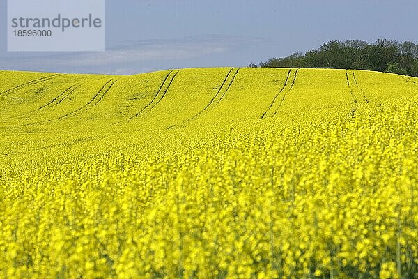
{"label": "entire bright yellow rapeseed field, from foreground blooms to hill crest", "polygon": [[0,72],[0,278],[418,278],[418,79]]}

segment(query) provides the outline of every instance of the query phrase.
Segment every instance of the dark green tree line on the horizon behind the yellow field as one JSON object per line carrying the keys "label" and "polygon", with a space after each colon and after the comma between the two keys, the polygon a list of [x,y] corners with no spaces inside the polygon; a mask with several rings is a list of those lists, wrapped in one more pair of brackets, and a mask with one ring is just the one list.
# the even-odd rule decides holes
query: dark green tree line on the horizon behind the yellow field
{"label": "dark green tree line on the horizon behind the yellow field", "polygon": [[372,44],[364,40],[332,40],[305,54],[297,52],[249,66],[376,70],[418,77],[418,45],[382,38]]}

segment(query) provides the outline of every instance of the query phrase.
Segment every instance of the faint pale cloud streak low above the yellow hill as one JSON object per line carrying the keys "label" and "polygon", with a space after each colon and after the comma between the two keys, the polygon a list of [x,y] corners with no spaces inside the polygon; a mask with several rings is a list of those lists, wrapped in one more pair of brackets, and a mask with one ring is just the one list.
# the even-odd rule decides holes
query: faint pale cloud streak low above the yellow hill
{"label": "faint pale cloud streak low above the yellow hill", "polygon": [[[203,56],[224,54],[263,42],[262,38],[244,36],[193,36],[178,39],[155,39],[127,42],[109,47],[105,52],[47,53],[43,56],[9,57],[3,59],[6,68],[37,70],[40,68],[73,68],[93,72],[132,73],[134,64],[152,61],[184,61]],[[138,67],[133,67],[138,70]],[[148,67],[150,68],[150,67]],[[155,70],[155,69],[153,69]],[[141,71],[144,71],[142,69]]]}

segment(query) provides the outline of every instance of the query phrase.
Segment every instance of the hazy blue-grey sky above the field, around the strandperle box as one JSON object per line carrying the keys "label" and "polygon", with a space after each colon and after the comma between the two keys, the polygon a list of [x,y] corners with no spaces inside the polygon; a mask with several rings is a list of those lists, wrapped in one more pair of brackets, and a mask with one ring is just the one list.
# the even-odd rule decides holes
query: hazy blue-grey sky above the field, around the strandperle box
{"label": "hazy blue-grey sky above the field, around the strandperle box", "polygon": [[330,40],[418,43],[417,10],[416,0],[107,0],[106,51],[7,52],[0,0],[0,70],[131,75],[245,67]]}

